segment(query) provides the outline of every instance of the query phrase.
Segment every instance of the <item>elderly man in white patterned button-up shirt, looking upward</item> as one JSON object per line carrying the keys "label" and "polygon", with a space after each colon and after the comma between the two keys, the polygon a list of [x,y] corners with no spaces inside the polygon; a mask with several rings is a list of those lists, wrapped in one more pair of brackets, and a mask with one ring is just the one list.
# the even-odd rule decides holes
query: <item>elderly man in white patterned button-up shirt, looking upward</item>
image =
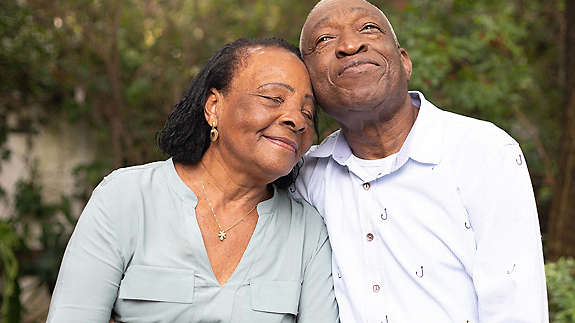
{"label": "elderly man in white patterned button-up shirt, looking upward", "polygon": [[305,157],[340,315],[351,322],[547,322],[541,235],[519,145],[408,92],[412,65],[363,0],[324,0],[300,48],[341,130]]}

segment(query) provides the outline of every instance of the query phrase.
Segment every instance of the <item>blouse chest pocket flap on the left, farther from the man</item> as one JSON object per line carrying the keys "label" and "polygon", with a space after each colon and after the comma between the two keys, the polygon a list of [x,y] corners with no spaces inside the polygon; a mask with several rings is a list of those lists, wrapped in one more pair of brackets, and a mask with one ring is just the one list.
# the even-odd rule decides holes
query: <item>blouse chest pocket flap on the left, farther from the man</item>
{"label": "blouse chest pocket flap on the left, farther from the man", "polygon": [[194,272],[157,266],[130,266],[118,294],[120,300],[191,304]]}

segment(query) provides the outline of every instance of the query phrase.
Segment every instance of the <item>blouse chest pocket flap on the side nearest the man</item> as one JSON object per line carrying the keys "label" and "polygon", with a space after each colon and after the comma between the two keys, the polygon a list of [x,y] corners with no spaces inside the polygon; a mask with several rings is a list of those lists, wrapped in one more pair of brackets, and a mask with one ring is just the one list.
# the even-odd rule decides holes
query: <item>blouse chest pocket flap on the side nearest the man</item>
{"label": "blouse chest pocket flap on the side nearest the man", "polygon": [[297,315],[301,283],[299,281],[250,282],[251,308],[256,312]]}

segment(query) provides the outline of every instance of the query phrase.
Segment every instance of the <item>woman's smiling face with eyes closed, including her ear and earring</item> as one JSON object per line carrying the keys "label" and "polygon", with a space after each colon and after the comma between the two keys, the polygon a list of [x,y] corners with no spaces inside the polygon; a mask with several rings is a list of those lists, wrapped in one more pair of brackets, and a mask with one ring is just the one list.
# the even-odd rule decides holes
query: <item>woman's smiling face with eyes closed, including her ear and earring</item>
{"label": "woman's smiling face with eyes closed, including her ear and earring", "polygon": [[248,49],[228,90],[217,96],[215,114],[207,115],[220,134],[211,148],[236,169],[272,182],[288,174],[310,148],[315,99],[307,70],[293,53]]}

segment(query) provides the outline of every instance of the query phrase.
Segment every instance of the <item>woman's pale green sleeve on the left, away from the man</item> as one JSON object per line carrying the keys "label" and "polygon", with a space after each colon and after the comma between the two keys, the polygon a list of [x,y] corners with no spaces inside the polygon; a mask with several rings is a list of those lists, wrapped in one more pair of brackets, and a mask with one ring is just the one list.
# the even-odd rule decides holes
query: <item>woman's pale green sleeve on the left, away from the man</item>
{"label": "woman's pale green sleeve on the left, away from the man", "polygon": [[115,223],[96,188],[66,247],[47,322],[108,323],[123,268]]}

